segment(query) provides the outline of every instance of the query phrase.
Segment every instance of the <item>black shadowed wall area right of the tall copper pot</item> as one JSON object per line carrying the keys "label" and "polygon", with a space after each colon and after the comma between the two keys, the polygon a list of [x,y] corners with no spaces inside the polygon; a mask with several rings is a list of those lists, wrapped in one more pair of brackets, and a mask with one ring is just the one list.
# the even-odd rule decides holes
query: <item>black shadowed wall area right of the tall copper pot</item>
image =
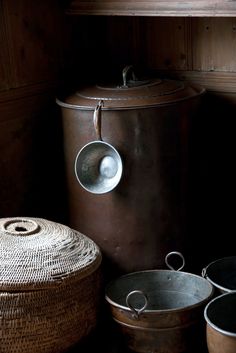
{"label": "black shadowed wall area right of the tall copper pot", "polygon": [[193,263],[204,266],[214,259],[233,255],[235,109],[234,104],[207,93],[200,115],[193,123],[188,256]]}

